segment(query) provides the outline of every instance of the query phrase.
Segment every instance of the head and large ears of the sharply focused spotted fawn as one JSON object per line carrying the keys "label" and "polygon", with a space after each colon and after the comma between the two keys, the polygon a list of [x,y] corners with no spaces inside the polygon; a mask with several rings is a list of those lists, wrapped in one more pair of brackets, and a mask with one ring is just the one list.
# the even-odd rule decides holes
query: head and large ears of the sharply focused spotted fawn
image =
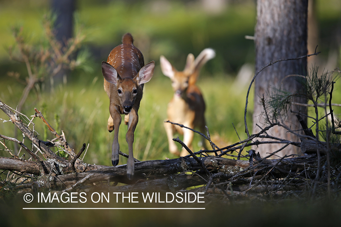
{"label": "head and large ears of the sharply focused spotted fawn", "polygon": [[[128,114],[133,108],[136,97],[139,95],[140,85],[147,83],[151,79],[154,73],[154,66],[155,63],[153,61],[149,62],[132,78],[122,78],[112,65],[104,61],[102,62],[103,77],[107,82],[115,85],[117,96],[113,97],[118,97],[124,114]],[[142,88],[140,96],[142,98]]]}

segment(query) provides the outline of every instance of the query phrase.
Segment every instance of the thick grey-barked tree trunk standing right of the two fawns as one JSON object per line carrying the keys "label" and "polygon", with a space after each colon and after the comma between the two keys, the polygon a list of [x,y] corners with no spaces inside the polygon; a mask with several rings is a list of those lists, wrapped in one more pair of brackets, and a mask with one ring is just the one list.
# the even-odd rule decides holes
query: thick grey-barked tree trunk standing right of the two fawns
{"label": "thick grey-barked tree trunk standing right of the two fawns", "polygon": [[[257,24],[255,28],[255,71],[258,72],[270,62],[279,59],[297,58],[307,54],[307,12],[308,0],[258,0],[257,1]],[[259,132],[260,127],[264,128],[264,109],[260,104],[261,97],[267,98],[272,87],[281,85],[282,90],[294,92],[300,87],[294,77],[287,77],[291,74],[305,75],[307,58],[293,61],[281,61],[265,68],[255,79],[253,133]],[[306,103],[306,100],[295,100]],[[302,106],[292,106],[291,109],[305,113]],[[290,127],[291,130],[301,129],[295,113],[290,113],[282,124]],[[299,138],[288,133],[282,127],[273,127],[268,135],[281,139],[298,141]],[[265,144],[255,149],[261,156],[281,148],[280,144]],[[299,148],[288,146],[279,153],[282,157],[285,154],[300,153]]]}

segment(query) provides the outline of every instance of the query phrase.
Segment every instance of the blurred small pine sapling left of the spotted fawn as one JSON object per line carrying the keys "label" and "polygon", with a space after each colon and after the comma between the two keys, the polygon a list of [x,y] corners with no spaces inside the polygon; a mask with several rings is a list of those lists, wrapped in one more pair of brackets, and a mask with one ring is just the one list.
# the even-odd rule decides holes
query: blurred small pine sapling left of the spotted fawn
{"label": "blurred small pine sapling left of the spotted fawn", "polygon": [[87,60],[88,54],[80,51],[76,55],[85,39],[81,26],[76,26],[78,31],[75,32],[75,36],[66,40],[65,45],[62,45],[55,36],[54,20],[55,17],[51,14],[44,16],[44,39],[35,44],[29,42],[27,35],[23,32],[23,27],[16,26],[12,29],[15,45],[8,49],[10,58],[25,63],[27,68],[27,74],[23,76],[17,72],[9,73],[10,76],[25,85],[18,103],[18,111],[22,109],[33,88],[39,92],[39,85],[48,78],[55,77],[62,69],[73,70],[86,65],[84,62]]}

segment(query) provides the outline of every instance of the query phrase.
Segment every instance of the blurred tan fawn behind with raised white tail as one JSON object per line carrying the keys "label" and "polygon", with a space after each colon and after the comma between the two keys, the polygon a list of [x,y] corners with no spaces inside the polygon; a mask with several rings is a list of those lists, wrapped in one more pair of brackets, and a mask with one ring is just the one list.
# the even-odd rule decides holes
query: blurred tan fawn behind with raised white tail
{"label": "blurred tan fawn behind with raised white tail", "polygon": [[[201,67],[210,59],[214,58],[216,53],[212,49],[204,49],[194,60],[193,54],[188,54],[186,66],[183,71],[177,71],[172,64],[164,57],[160,56],[161,70],[163,74],[172,80],[174,96],[168,103],[167,117],[169,121],[184,125],[188,128],[199,128],[202,133],[205,130],[205,101],[199,88],[195,85]],[[164,123],[167,133],[169,151],[176,155],[186,156],[188,152],[182,148],[179,153],[173,133],[177,130],[183,134],[183,142],[191,149],[194,132],[181,128],[170,123]],[[203,146],[205,147],[205,139]]]}

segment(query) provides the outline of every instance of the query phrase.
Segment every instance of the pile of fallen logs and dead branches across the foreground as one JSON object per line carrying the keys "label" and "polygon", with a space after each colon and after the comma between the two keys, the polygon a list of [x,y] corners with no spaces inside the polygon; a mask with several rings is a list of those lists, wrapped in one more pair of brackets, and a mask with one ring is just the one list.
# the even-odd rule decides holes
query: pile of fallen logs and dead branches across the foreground
{"label": "pile of fallen logs and dead branches across the foreground", "polygon": [[[329,190],[338,192],[340,188],[341,169],[334,168],[328,172],[326,156],[322,156],[320,159],[322,171],[320,176],[316,176],[318,158],[316,152],[314,153],[311,148],[309,148],[309,154],[305,156],[284,156],[273,160],[267,159],[268,157],[260,158],[256,151],[251,149],[248,151],[247,158],[249,160],[236,160],[220,157],[226,155],[231,146],[218,149],[218,151],[220,150],[219,155],[217,150],[205,150],[197,152],[202,156],[197,157],[178,138],[174,140],[189,151],[188,157],[142,162],[136,160],[135,177],[129,181],[126,177],[126,165],[109,167],[84,163],[79,156],[85,150],[85,144],[78,155],[75,155],[65,138],[54,131],[38,110],[36,110],[35,116],[44,120],[50,131],[56,135],[60,146],[73,157],[71,161],[61,158],[51,151],[45,145],[46,142],[40,141],[34,136],[33,131],[18,117],[18,113],[13,112],[1,101],[0,109],[32,141],[33,147],[37,152],[41,151],[43,156],[37,155],[33,152],[33,148],[30,150],[15,138],[0,135],[5,140],[18,143],[35,160],[29,161],[15,155],[12,155],[12,158],[0,157],[0,169],[13,173],[12,175],[8,174],[6,180],[0,182],[2,191],[11,190],[18,193],[32,190],[79,192],[96,188],[97,191],[114,192],[177,192],[189,187],[196,187],[188,192],[205,192],[207,195],[205,198],[231,200],[231,198],[303,197],[309,195],[314,187],[316,187],[314,193],[324,193],[327,187]],[[241,143],[243,144],[243,142]],[[211,144],[213,146],[212,142]],[[287,143],[287,145],[289,144],[291,142]],[[236,146],[234,146],[235,148]],[[210,152],[217,155],[207,155]],[[331,174],[330,177],[328,173]],[[116,186],[119,182],[125,185]]]}

